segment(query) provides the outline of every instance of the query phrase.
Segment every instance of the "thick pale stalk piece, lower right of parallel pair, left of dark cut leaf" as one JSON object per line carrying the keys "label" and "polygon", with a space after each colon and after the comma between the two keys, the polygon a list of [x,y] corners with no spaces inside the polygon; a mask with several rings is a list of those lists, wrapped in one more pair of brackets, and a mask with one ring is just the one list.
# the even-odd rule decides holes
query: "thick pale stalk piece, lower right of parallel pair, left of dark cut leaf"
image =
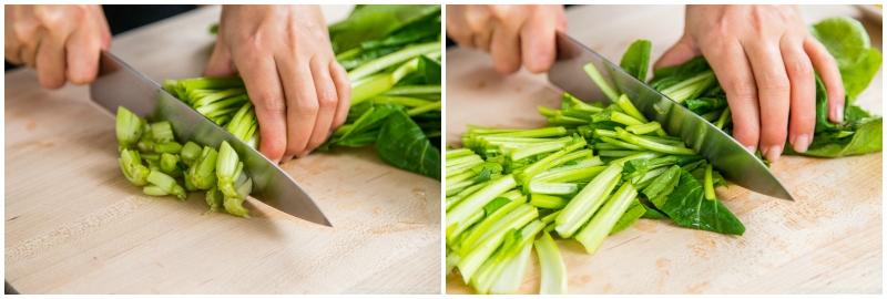
{"label": "thick pale stalk piece, lower right of parallel pair, left of dark cut leaf", "polygon": [[585,247],[589,255],[598,251],[604,238],[610,235],[610,230],[613,229],[622,214],[629,209],[629,205],[635,197],[638,197],[638,190],[634,186],[629,182],[623,183],[622,187],[601,207],[601,210],[591,218],[585,228],[579,231],[575,239]]}

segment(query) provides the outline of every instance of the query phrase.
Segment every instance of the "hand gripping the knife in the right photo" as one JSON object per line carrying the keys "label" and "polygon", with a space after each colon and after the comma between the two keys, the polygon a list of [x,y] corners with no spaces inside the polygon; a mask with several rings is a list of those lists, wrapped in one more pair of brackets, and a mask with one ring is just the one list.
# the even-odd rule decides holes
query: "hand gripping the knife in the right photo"
{"label": "hand gripping the knife in the right photo", "polygon": [[450,38],[490,52],[503,74],[521,63],[532,73],[548,71],[557,55],[557,31],[567,31],[563,6],[447,6]]}

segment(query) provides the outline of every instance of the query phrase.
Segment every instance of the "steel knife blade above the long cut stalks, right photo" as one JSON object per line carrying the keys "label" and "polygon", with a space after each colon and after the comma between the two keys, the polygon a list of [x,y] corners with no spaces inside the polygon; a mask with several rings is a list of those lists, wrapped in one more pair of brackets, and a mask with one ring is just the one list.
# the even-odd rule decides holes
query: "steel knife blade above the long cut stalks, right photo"
{"label": "steel knife blade above the long cut stalks, right photo", "polygon": [[769,168],[736,140],[569,35],[558,33],[557,39],[558,61],[548,72],[551,83],[585,101],[606,99],[582,70],[592,62],[641,113],[661,123],[670,135],[683,138],[687,147],[707,158],[724,178],[756,193],[794,200]]}

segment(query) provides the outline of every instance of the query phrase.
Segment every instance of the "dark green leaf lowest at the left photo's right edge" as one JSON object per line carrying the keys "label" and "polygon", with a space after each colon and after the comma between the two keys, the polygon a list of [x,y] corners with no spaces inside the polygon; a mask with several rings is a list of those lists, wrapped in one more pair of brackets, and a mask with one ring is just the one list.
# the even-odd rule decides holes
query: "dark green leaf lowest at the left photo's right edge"
{"label": "dark green leaf lowest at the left photo's right edge", "polygon": [[388,116],[381,126],[376,153],[395,167],[440,181],[440,151],[402,110]]}

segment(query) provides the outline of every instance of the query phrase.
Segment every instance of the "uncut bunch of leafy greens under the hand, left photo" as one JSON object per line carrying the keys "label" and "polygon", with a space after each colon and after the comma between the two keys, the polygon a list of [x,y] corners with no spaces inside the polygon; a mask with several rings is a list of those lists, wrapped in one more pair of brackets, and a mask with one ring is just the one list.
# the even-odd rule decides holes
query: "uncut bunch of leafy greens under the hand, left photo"
{"label": "uncut bunch of leafy greens under the hand, left photo", "polygon": [[[440,6],[357,6],[329,27],[351,107],[318,150],[376,146],[398,168],[440,179]],[[239,78],[166,80],[171,94],[254,148],[259,131]]]}

